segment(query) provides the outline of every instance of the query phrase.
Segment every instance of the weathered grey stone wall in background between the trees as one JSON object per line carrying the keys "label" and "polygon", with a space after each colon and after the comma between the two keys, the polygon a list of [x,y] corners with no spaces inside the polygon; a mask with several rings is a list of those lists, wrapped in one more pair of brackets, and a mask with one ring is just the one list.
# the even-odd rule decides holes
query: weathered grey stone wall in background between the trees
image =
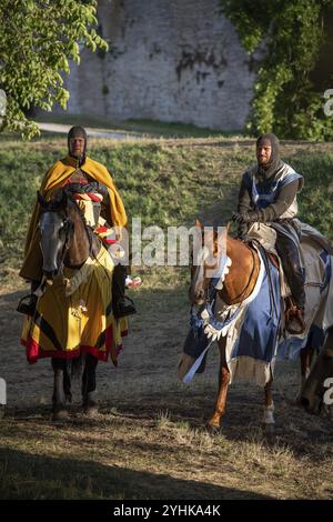
{"label": "weathered grey stone wall in background between the trees", "polygon": [[243,127],[252,61],[219,0],[100,0],[99,20],[112,47],[71,66],[69,113]]}

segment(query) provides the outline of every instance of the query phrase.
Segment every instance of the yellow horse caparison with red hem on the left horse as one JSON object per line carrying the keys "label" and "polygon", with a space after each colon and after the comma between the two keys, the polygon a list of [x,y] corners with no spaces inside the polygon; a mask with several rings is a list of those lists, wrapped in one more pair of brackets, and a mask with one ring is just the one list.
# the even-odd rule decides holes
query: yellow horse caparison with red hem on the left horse
{"label": "yellow horse caparison with red hem on the left horse", "polygon": [[102,361],[110,355],[117,367],[128,322],[127,318],[117,321],[113,317],[113,268],[109,252],[101,247],[95,260],[80,270],[64,269],[63,275],[47,285],[34,317],[24,318],[21,343],[30,363],[88,352]]}

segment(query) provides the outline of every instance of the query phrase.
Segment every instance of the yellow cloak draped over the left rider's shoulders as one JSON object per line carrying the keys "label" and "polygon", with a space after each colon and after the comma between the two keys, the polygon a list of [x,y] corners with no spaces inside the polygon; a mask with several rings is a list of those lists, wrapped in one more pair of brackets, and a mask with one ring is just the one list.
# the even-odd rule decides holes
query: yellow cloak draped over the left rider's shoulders
{"label": "yellow cloak draped over the left rider's shoulders", "polygon": [[[46,173],[40,192],[47,199],[51,199],[53,191],[62,187],[71,174],[78,169],[77,160],[68,155],[57,161],[53,167]],[[112,225],[125,227],[128,222],[127,213],[121,197],[113,183],[111,174],[105,167],[97,161],[85,157],[85,161],[80,165],[80,170],[91,175],[94,180],[108,187],[110,197],[110,218]],[[42,277],[42,257],[39,247],[39,231],[37,229],[41,214],[40,204],[37,201],[30,220],[30,225],[26,240],[24,261],[20,271],[21,278],[39,281]]]}

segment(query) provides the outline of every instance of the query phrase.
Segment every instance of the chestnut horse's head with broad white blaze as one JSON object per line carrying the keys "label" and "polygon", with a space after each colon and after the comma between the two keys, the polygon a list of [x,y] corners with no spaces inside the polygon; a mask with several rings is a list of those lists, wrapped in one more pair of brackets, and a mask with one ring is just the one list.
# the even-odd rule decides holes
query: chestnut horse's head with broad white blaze
{"label": "chestnut horse's head with broad white blaze", "polygon": [[203,305],[209,297],[212,278],[219,269],[223,249],[221,248],[221,234],[215,228],[204,228],[198,220],[195,227],[198,234],[195,234],[193,244],[189,297],[191,304]]}

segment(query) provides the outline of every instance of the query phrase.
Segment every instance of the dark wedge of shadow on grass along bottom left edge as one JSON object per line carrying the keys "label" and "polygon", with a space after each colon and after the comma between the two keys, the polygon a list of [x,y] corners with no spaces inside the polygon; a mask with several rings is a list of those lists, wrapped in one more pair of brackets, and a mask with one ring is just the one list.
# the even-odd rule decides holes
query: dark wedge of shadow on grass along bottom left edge
{"label": "dark wedge of shadow on grass along bottom left edge", "polygon": [[0,449],[0,498],[4,499],[271,499],[149,471],[92,460],[31,455]]}

